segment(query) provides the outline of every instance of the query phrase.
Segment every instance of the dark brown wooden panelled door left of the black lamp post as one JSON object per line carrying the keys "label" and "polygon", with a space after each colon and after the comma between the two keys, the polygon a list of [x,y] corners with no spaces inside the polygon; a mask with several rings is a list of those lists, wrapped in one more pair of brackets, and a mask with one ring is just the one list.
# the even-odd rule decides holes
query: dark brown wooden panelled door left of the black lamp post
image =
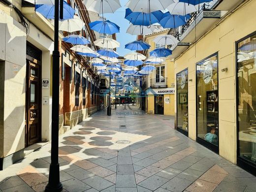
{"label": "dark brown wooden panelled door left of the black lamp post", "polygon": [[26,82],[26,136],[25,144],[30,146],[41,140],[41,64],[27,56]]}

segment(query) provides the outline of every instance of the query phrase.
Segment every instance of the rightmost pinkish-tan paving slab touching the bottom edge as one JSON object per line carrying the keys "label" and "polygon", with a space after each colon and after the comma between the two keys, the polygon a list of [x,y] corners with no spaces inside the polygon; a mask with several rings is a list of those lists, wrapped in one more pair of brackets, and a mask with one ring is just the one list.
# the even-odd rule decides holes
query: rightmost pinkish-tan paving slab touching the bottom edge
{"label": "rightmost pinkish-tan paving slab touching the bottom edge", "polygon": [[217,184],[197,179],[188,189],[189,192],[213,192]]}

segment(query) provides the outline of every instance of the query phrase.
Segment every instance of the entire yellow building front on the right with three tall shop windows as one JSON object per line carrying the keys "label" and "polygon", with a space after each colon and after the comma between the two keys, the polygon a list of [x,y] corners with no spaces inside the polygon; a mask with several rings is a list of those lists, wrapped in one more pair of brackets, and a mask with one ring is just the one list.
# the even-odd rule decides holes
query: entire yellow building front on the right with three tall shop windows
{"label": "entire yellow building front on the right with three tall shop windows", "polygon": [[173,49],[175,127],[254,174],[255,10],[256,0],[224,0]]}

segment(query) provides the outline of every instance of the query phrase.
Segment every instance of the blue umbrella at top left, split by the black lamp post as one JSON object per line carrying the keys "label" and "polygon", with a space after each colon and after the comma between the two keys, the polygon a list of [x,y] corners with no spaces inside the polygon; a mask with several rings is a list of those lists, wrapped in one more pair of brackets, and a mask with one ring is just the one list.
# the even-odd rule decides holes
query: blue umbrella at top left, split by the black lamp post
{"label": "blue umbrella at top left, split by the black lamp post", "polygon": [[[54,4],[36,4],[35,11],[41,13],[46,19],[54,19]],[[73,19],[75,9],[64,1],[63,4],[63,20]]]}

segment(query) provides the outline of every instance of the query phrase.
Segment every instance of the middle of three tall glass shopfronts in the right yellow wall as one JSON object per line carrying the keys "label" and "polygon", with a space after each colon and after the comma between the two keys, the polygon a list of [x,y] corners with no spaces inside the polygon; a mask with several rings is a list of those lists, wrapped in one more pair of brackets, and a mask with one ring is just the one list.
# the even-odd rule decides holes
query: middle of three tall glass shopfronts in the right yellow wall
{"label": "middle of three tall glass shopfronts in the right yellow wall", "polygon": [[196,64],[196,141],[219,152],[218,57]]}

